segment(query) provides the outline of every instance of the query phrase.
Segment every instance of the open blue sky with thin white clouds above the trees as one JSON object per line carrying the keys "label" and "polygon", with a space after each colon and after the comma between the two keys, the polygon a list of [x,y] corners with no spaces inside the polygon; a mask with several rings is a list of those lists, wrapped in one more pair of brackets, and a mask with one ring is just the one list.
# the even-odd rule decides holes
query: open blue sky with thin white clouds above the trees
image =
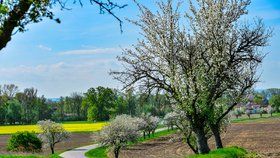
{"label": "open blue sky with thin white clouds above the trees", "polygon": [[[155,9],[154,0],[138,0]],[[121,18],[136,18],[138,11],[132,0],[120,0],[128,7],[116,10]],[[135,43],[138,28],[125,22],[123,34],[118,22],[109,15],[98,14],[97,6],[71,6],[70,11],[55,11],[61,24],[45,19],[28,26],[28,31],[16,34],[0,53],[0,84],[14,83],[24,89],[35,87],[46,97],[85,92],[90,87],[121,88],[109,76],[110,70],[120,69],[116,56],[121,47]],[[248,17],[261,17],[273,27],[269,54],[259,72],[257,89],[280,87],[280,1],[252,0]]]}

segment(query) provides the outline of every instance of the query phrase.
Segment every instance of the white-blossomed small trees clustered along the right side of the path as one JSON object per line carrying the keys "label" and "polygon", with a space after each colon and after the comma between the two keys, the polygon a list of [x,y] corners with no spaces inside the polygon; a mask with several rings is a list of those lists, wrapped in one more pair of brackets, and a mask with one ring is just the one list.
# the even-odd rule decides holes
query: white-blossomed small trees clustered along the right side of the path
{"label": "white-blossomed small trees clustered along the right side of the path", "polygon": [[155,132],[159,124],[159,118],[149,115],[132,117],[130,115],[118,115],[108,126],[102,128],[94,138],[103,146],[109,146],[118,158],[121,148],[129,142],[135,142],[141,136],[141,132]]}

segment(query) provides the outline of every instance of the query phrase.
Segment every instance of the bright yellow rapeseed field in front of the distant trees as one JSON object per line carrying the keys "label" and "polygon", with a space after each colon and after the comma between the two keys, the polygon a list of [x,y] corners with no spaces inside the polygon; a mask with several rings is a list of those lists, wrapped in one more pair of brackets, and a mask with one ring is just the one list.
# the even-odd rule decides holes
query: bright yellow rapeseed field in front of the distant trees
{"label": "bright yellow rapeseed field in front of the distant trees", "polygon": [[[63,127],[68,132],[94,132],[100,130],[105,126],[106,122],[100,123],[71,123],[63,124]],[[38,125],[13,125],[13,126],[0,126],[0,134],[13,134],[18,131],[34,131],[40,133]]]}

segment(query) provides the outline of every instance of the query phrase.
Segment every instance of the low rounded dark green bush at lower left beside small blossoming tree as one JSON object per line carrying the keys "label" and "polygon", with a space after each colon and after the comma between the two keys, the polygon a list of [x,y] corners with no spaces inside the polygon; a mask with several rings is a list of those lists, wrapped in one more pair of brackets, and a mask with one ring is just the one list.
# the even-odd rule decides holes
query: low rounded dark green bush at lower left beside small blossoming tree
{"label": "low rounded dark green bush at lower left beside small blossoming tree", "polygon": [[34,132],[17,132],[8,140],[9,151],[38,152],[42,149],[42,141]]}

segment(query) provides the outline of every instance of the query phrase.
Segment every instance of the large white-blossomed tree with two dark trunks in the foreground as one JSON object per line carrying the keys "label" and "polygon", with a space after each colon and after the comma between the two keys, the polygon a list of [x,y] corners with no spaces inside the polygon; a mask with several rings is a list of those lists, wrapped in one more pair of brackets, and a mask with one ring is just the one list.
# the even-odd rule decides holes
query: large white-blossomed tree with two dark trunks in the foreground
{"label": "large white-blossomed tree with two dark trunks in the foreground", "polygon": [[[125,87],[164,90],[185,112],[199,153],[210,151],[205,127],[222,147],[220,123],[258,80],[256,68],[271,33],[261,20],[242,23],[249,0],[190,0],[182,22],[180,5],[159,3],[153,13],[138,4],[143,40],[118,59],[124,71],[112,72]],[[220,99],[231,98],[227,104]]]}

